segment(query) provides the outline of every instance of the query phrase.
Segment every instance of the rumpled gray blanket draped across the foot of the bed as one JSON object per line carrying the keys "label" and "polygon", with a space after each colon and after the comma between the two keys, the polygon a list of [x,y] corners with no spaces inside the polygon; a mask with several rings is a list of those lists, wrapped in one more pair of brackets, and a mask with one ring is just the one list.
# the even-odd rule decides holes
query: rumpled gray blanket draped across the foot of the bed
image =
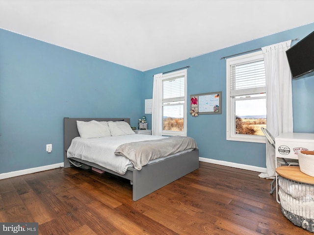
{"label": "rumpled gray blanket draped across the foot of the bed", "polygon": [[114,154],[127,157],[134,168],[142,169],[149,161],[169,156],[186,149],[197,149],[191,137],[173,136],[160,140],[140,141],[121,144]]}

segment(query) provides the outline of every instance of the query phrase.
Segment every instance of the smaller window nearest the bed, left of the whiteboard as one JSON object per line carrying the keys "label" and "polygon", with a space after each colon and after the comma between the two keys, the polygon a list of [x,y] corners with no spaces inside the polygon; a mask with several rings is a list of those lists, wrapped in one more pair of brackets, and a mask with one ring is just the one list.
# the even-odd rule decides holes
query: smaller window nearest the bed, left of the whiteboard
{"label": "smaller window nearest the bed, left of the whiteboard", "polygon": [[162,75],[162,135],[186,136],[186,70]]}

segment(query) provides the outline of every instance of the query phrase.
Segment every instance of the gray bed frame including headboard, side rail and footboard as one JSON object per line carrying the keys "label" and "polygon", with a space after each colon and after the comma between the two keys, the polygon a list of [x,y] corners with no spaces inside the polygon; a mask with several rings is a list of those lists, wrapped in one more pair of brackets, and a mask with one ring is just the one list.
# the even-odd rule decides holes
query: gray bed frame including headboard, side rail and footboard
{"label": "gray bed frame including headboard, side rail and footboard", "polygon": [[[124,120],[130,124],[130,118],[64,118],[64,167],[70,167],[66,151],[72,139],[78,137],[77,120],[80,121],[119,121]],[[199,168],[199,151],[193,150],[157,163],[143,166],[141,170],[129,167],[125,175],[106,169],[98,164],[80,159],[74,160],[104,170],[114,175],[129,179],[133,185],[133,201],[162,188],[163,186],[181,178],[182,176]]]}

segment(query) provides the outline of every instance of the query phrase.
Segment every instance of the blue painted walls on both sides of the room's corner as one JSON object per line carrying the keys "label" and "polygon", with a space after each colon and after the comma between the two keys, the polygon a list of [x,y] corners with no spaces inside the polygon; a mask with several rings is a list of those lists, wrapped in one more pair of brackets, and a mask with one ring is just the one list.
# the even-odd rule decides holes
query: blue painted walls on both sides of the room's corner
{"label": "blue painted walls on both sides of the room's corner", "polygon": [[[313,30],[308,24],[141,72],[0,29],[0,173],[63,162],[64,117],[130,117],[136,126],[144,99],[152,98],[153,75],[184,66],[190,66],[188,95],[222,92],[221,115],[187,118],[200,157],[265,167],[265,144],[226,141],[226,61],[220,57]],[[313,76],[292,81],[294,132],[314,133],[313,91]]]}

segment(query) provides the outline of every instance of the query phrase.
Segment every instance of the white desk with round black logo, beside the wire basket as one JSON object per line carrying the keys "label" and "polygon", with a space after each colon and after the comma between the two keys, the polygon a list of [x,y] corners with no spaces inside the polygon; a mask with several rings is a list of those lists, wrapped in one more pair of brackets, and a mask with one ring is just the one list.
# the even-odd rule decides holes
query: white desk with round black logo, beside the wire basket
{"label": "white desk with round black logo, beside the wire basket", "polygon": [[[298,153],[302,150],[314,150],[314,133],[282,133],[277,136],[275,138],[276,168],[278,158],[298,159]],[[280,203],[278,187],[276,187],[276,200]]]}

